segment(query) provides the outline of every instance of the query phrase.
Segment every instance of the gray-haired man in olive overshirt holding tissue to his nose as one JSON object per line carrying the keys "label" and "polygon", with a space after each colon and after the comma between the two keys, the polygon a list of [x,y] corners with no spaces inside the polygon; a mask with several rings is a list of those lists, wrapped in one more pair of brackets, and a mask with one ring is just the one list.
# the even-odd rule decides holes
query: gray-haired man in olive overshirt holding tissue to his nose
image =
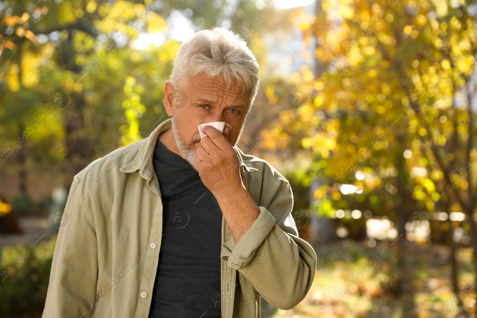
{"label": "gray-haired man in olive overshirt holding tissue to his nose", "polygon": [[[259,65],[224,28],[184,42],[147,138],[74,177],[45,318],[260,317],[311,287],[316,254],[298,237],[290,184],[235,144]],[[223,133],[197,125],[225,122]]]}

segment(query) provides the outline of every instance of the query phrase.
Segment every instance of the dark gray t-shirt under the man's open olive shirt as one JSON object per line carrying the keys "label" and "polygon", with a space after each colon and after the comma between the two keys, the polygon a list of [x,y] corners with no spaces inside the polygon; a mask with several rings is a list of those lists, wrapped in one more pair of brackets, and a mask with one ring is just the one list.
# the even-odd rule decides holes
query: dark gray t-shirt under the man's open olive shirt
{"label": "dark gray t-shirt under the man's open olive shirt", "polygon": [[222,211],[199,174],[157,139],[162,243],[150,318],[219,318]]}

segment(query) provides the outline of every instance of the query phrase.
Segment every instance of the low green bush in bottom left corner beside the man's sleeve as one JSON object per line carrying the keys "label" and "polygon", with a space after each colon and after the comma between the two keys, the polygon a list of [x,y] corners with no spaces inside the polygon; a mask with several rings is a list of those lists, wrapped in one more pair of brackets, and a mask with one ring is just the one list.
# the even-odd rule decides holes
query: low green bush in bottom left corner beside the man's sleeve
{"label": "low green bush in bottom left corner beside the man's sleeve", "polygon": [[[56,237],[38,246],[6,246],[0,258],[2,317],[36,317],[43,311]],[[28,305],[28,306],[27,306]],[[30,308],[29,308],[30,307]]]}

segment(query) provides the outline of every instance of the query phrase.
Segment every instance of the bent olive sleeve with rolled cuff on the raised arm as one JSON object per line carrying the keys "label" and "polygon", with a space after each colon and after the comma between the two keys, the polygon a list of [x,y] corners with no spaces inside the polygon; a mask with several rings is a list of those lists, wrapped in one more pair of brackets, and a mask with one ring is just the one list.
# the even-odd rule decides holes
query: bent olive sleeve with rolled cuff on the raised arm
{"label": "bent olive sleeve with rolled cuff on the raised arm", "polygon": [[316,268],[313,248],[298,237],[292,207],[291,187],[284,180],[270,204],[259,206],[259,217],[228,258],[239,280],[248,279],[261,297],[281,309],[295,307],[306,296]]}

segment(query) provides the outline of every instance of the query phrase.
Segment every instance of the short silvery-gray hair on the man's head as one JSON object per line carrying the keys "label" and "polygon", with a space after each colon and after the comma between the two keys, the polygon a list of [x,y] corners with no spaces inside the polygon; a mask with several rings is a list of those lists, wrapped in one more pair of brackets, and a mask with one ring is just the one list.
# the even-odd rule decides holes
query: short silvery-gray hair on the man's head
{"label": "short silvery-gray hair on the man's head", "polygon": [[253,103],[259,90],[259,63],[247,43],[226,28],[198,31],[182,43],[174,60],[170,82],[180,89],[188,76],[222,75],[228,86],[238,83]]}

